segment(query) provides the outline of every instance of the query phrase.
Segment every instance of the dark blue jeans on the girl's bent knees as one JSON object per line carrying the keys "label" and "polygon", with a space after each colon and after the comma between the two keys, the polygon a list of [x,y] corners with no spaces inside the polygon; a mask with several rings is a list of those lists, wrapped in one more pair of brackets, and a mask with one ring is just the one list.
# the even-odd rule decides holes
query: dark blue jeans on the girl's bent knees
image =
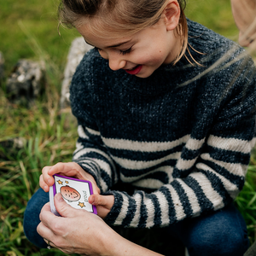
{"label": "dark blue jeans on the girl's bent knees", "polygon": [[[24,214],[25,235],[29,241],[38,247],[47,246],[43,238],[38,235],[37,226],[40,222],[41,208],[48,201],[48,193],[45,193],[43,189],[38,189],[28,202]],[[154,229],[149,231],[152,232],[152,230],[154,232]],[[189,256],[242,256],[249,247],[245,221],[234,205],[205,216],[186,218],[167,228],[155,230],[156,232],[161,230],[162,247],[166,247],[168,250],[170,248],[171,252],[172,247],[174,247],[173,241],[178,239],[188,248]],[[132,229],[132,231],[136,232],[136,229]],[[147,233],[148,230],[144,231]],[[120,233],[122,234],[122,232]],[[163,252],[160,251],[160,253]],[[165,254],[168,255],[169,253]]]}

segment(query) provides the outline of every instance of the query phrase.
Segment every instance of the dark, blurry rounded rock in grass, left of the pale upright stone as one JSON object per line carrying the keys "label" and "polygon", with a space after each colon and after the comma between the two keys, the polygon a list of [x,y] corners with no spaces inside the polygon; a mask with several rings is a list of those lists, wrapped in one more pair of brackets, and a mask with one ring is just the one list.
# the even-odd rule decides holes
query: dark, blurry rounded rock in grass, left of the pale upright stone
{"label": "dark, blurry rounded rock in grass, left of the pale upright stone", "polygon": [[6,83],[9,101],[29,105],[41,95],[45,82],[43,62],[18,61]]}

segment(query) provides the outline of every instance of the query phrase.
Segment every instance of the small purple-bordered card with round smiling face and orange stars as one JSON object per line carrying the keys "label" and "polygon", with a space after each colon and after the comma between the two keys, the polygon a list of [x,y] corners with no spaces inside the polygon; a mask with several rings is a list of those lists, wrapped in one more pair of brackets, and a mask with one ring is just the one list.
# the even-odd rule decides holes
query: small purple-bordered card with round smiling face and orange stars
{"label": "small purple-bordered card with round smiling face and orange stars", "polygon": [[88,212],[97,214],[96,206],[92,206],[88,202],[88,198],[93,194],[90,181],[77,179],[74,177],[65,177],[58,174],[54,176],[55,183],[49,187],[49,205],[50,211],[60,216],[56,211],[54,197],[57,193],[61,193],[63,199],[71,207],[76,209],[84,209]]}

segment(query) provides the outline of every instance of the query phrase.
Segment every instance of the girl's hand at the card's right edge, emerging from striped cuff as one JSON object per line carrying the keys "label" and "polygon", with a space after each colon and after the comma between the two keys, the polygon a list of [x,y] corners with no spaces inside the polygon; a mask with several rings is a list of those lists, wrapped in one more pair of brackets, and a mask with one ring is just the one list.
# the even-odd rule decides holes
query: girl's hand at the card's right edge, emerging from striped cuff
{"label": "girl's hand at the card's right edge, emerging from striped cuff", "polygon": [[113,195],[90,195],[88,201],[91,205],[96,206],[97,213],[101,218],[106,218],[108,212],[113,207]]}

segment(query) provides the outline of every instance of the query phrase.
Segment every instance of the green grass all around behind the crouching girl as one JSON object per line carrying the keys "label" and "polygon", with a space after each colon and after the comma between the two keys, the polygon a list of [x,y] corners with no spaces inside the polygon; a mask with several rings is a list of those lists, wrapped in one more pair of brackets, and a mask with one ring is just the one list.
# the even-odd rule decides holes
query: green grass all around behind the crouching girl
{"label": "green grass all around behind the crouching girl", "polygon": [[[57,33],[58,2],[35,0],[0,2],[0,51],[5,58],[5,75],[21,58],[45,61],[47,84],[44,96],[31,108],[6,98],[5,80],[0,88],[0,141],[24,137],[20,150],[0,146],[0,255],[63,255],[58,250],[38,250],[26,240],[22,218],[27,201],[38,189],[41,169],[72,158],[77,137],[70,110],[59,109],[62,73],[67,51],[79,36],[74,30]],[[189,0],[186,14],[216,32],[236,40],[230,0]],[[218,17],[218,18],[217,18]],[[247,222],[250,240],[256,236],[256,154],[247,172],[247,182],[236,199]]]}

